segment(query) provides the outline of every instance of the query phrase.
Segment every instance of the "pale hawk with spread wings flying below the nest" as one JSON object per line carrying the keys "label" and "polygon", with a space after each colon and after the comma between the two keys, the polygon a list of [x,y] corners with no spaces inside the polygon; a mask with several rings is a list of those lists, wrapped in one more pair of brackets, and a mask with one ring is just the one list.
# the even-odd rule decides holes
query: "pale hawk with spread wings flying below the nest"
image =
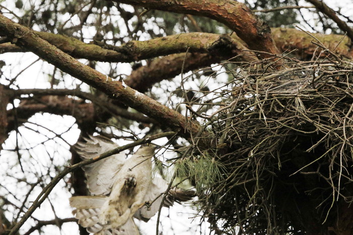
{"label": "pale hawk with spread wings flying below the nest", "polygon": [[[110,139],[101,136],[85,138],[76,145],[83,159],[117,147]],[[152,161],[155,148],[142,146],[128,160],[123,152],[114,154],[83,168],[87,186],[92,196],[70,198],[70,205],[79,224],[94,234],[138,235],[133,217],[148,221],[159,209],[168,183],[152,177]],[[174,201],[190,200],[192,190],[173,189],[168,192],[163,206]]]}

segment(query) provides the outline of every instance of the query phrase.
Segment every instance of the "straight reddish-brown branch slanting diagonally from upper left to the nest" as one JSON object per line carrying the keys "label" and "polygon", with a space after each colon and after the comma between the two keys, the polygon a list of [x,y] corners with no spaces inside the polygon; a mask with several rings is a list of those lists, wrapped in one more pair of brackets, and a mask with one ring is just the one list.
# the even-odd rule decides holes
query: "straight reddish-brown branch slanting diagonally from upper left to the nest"
{"label": "straight reddish-brown branch slanting diagonally from upper left to the nest", "polygon": [[191,133],[197,134],[199,132],[199,123],[186,120],[180,113],[161,105],[120,81],[112,81],[110,77],[77,61],[40,38],[27,27],[13,22],[2,14],[0,14],[0,32],[11,38],[16,45],[27,48],[62,71],[102,91],[113,99],[119,99],[126,105],[164,123],[171,129],[181,131],[184,136],[188,137]]}

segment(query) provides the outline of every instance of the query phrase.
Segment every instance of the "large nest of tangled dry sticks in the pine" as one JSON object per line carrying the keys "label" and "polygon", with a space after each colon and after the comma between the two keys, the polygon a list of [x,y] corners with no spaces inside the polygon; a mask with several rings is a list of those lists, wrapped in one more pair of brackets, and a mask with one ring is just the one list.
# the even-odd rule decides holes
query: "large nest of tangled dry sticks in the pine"
{"label": "large nest of tangled dry sticks in the pine", "polygon": [[189,166],[214,229],[301,234],[306,224],[318,224],[318,233],[323,222],[331,226],[338,202],[353,196],[352,67],[315,61],[233,72],[228,99],[208,119],[217,147],[193,157],[197,164],[213,155],[218,174],[200,180]]}

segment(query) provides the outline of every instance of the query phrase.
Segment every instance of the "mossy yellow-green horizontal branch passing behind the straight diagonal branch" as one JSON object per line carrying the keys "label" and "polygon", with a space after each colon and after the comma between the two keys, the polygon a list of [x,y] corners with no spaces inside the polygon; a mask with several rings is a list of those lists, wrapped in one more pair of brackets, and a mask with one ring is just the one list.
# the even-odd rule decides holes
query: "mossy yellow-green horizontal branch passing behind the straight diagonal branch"
{"label": "mossy yellow-green horizontal branch passing behind the straight diagonal branch", "polygon": [[[219,54],[219,56],[226,57],[230,52],[242,54],[241,49],[245,48],[241,42],[234,38],[210,33],[177,34],[147,41],[130,41],[122,46],[103,44],[101,47],[95,44],[84,43],[72,37],[45,32],[34,32],[42,39],[50,42],[75,58],[105,62],[132,62],[173,53],[181,53],[185,52],[188,48],[190,48],[190,52],[212,52]],[[225,51],[222,51],[222,48],[219,48],[219,46],[217,47],[219,44],[222,44],[228,49],[227,53],[224,53]],[[0,44],[0,53],[25,51],[26,49],[10,43]]]}

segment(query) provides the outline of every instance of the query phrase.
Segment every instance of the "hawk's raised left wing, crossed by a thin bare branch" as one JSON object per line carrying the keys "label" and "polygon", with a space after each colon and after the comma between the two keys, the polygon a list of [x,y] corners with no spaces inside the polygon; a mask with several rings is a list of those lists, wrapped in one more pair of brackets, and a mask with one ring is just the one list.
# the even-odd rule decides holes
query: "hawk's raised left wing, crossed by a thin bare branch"
{"label": "hawk's raised left wing, crossed by a thin bare branch", "polygon": [[[102,136],[89,136],[84,138],[85,143],[78,142],[75,147],[77,153],[83,159],[91,159],[95,156],[118,147]],[[125,154],[120,152],[109,156],[98,162],[83,167],[87,177],[87,186],[93,195],[107,195],[110,193],[111,187],[115,182],[115,177],[125,163]]]}

